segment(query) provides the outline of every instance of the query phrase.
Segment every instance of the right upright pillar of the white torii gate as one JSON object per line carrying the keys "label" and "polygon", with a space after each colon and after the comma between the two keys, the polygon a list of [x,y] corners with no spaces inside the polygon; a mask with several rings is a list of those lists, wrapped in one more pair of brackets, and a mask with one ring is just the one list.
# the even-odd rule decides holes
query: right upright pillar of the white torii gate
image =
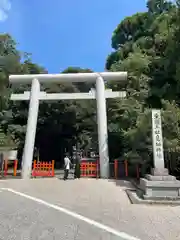
{"label": "right upright pillar of the white torii gate", "polygon": [[109,153],[108,153],[108,131],[107,112],[105,98],[105,84],[100,75],[96,79],[96,101],[97,101],[97,122],[98,122],[98,142],[101,178],[109,177]]}

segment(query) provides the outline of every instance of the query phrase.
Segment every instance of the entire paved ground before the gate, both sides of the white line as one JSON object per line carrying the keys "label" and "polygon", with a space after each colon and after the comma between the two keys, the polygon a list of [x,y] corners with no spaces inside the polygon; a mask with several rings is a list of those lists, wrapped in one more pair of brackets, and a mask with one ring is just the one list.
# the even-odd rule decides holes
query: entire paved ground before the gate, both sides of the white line
{"label": "entire paved ground before the gate, both sides of the white line", "polygon": [[[124,191],[132,187],[128,182],[8,180],[1,181],[0,187],[17,191],[0,192],[0,239],[180,239],[180,207],[131,205]],[[45,204],[38,203],[40,199]],[[83,216],[105,228],[92,225]],[[128,235],[120,238],[112,234],[113,229]]]}

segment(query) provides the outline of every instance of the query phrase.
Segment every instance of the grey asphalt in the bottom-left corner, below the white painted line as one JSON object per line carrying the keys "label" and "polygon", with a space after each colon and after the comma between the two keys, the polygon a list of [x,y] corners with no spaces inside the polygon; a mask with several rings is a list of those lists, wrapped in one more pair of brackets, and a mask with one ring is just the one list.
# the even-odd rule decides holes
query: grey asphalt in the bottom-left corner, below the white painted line
{"label": "grey asphalt in the bottom-left corner, below the white painted line", "polygon": [[0,239],[119,239],[84,221],[11,192],[3,192],[0,196]]}

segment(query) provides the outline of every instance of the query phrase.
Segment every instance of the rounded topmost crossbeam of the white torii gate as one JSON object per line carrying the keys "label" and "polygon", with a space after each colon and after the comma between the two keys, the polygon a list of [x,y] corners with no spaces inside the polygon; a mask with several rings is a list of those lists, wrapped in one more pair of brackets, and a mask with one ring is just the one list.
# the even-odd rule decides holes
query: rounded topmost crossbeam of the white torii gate
{"label": "rounded topmost crossbeam of the white torii gate", "polygon": [[126,81],[127,72],[100,72],[100,73],[60,73],[60,74],[25,74],[10,75],[10,83],[29,84],[33,79],[40,83],[60,82],[95,82],[101,76],[105,81]]}

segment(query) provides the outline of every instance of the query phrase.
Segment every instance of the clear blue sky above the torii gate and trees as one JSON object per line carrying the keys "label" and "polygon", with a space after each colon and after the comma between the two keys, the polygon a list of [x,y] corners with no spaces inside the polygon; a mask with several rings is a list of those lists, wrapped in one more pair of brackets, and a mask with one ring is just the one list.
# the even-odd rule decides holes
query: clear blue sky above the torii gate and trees
{"label": "clear blue sky above the torii gate and trees", "polygon": [[0,0],[0,33],[49,73],[69,66],[100,72],[114,29],[145,10],[145,0]]}

